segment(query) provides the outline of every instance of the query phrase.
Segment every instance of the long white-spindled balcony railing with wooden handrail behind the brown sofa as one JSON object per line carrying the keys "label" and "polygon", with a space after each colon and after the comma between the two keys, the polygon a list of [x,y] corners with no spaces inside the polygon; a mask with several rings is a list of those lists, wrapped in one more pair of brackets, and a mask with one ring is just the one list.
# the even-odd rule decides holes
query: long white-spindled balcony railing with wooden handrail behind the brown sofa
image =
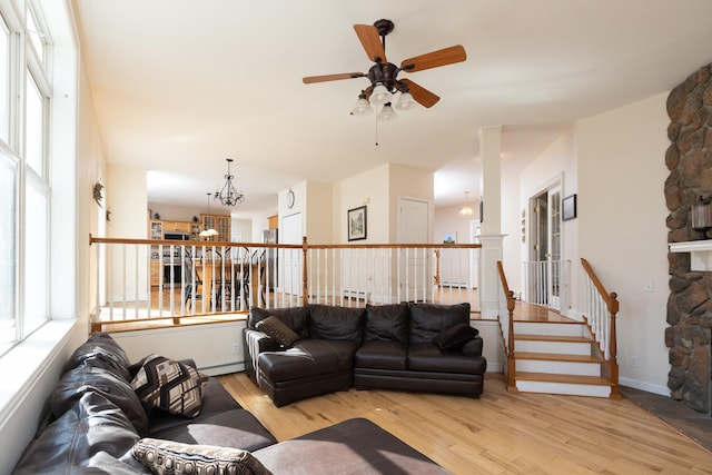
{"label": "long white-spindled balcony railing with wooden handrail behind the brown sofa", "polygon": [[301,245],[91,238],[95,321],[319,303],[479,308],[481,245]]}

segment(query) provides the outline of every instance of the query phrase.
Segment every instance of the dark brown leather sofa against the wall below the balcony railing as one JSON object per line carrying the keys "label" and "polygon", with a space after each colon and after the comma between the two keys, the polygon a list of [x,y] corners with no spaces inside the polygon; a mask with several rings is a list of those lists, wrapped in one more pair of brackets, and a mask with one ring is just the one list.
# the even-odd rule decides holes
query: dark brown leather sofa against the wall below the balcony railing
{"label": "dark brown leather sofa against the wall below the balcony railing", "polygon": [[[287,329],[273,328],[275,318]],[[487,362],[466,303],[255,307],[244,335],[246,370],[276,406],[352,386],[475,398],[484,388]]]}

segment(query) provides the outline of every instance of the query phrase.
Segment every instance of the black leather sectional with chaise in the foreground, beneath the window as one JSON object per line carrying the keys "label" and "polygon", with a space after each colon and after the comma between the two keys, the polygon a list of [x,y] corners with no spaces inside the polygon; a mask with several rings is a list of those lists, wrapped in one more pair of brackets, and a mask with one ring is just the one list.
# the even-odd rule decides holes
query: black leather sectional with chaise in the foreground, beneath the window
{"label": "black leather sectional with chaise in the foreground, beneath the window", "polygon": [[[180,365],[199,375],[192,362]],[[149,407],[132,387],[140,366],[130,365],[108,334],[91,336],[65,366],[49,395],[49,414],[38,417],[43,422],[13,473],[449,473],[364,418],[277,443],[217,379],[204,375],[196,386],[197,416]],[[162,376],[170,379],[168,370]]]}

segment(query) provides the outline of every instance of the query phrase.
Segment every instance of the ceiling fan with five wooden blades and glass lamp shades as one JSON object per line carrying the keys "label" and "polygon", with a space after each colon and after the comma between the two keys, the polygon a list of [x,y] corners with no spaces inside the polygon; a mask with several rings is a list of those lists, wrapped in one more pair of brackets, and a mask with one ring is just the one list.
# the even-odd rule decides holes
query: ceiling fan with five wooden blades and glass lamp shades
{"label": "ceiling fan with five wooden blades and glass lamp shades", "polygon": [[[400,66],[396,66],[386,59],[386,36],[390,33],[393,29],[393,21],[385,19],[377,20],[373,26],[354,24],[354,30],[364,50],[366,50],[366,56],[368,56],[370,61],[375,62],[375,65],[368,69],[368,72],[309,76],[303,78],[301,81],[305,85],[309,85],[313,82],[336,81],[340,79],[368,78],[370,86],[362,90],[358,96],[358,101],[352,110],[352,113],[357,116],[373,112],[370,105],[383,106],[378,117],[384,120],[395,117],[390,108],[392,103],[395,103],[396,109],[399,110],[407,110],[415,107],[415,101],[426,108],[435,106],[437,101],[441,100],[437,95],[409,79],[398,79],[398,73],[400,71],[416,72],[464,61],[467,59],[465,48],[461,44],[453,46],[404,59],[400,61]],[[397,92],[400,95],[396,102],[395,95]]]}

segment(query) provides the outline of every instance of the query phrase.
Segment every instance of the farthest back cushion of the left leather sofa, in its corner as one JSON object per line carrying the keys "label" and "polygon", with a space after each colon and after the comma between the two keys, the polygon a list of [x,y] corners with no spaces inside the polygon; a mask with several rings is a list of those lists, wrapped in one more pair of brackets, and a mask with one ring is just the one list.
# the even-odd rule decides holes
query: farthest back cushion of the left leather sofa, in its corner
{"label": "farthest back cushion of the left leather sofa, in its corner", "polygon": [[107,369],[128,383],[131,380],[131,375],[128,370],[130,364],[123,349],[108,333],[97,333],[75,349],[69,360],[65,364],[62,374],[77,366],[85,365]]}

